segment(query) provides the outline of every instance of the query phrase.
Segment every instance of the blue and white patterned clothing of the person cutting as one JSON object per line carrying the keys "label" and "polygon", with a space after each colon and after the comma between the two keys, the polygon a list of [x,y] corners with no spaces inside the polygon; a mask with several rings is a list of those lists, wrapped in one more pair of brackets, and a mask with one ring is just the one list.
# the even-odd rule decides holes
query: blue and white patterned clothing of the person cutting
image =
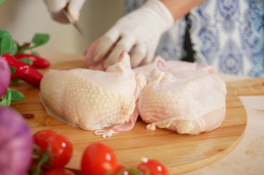
{"label": "blue and white patterned clothing of the person cutting", "polygon": [[[125,13],[146,0],[126,0]],[[164,33],[156,55],[181,59],[186,25],[195,50],[195,61],[210,64],[220,73],[264,76],[264,1],[208,0],[175,22]]]}

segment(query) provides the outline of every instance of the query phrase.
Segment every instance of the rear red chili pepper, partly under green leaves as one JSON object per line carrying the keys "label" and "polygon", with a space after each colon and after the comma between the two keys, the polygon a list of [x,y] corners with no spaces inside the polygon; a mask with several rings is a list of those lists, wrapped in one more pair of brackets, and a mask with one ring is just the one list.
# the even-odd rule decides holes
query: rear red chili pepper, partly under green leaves
{"label": "rear red chili pepper, partly under green leaves", "polygon": [[17,59],[21,59],[25,57],[27,59],[30,59],[33,62],[32,66],[35,68],[47,68],[51,65],[47,59],[38,57],[36,55],[31,55],[31,54],[26,54],[26,53],[17,53],[15,57]]}

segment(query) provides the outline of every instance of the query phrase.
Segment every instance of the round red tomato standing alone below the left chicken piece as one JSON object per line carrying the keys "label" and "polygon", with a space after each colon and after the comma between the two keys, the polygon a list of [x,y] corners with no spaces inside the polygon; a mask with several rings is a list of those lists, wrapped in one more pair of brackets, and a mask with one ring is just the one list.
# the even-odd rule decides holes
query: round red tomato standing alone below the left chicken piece
{"label": "round red tomato standing alone below the left chicken piece", "polygon": [[113,150],[96,142],[88,146],[81,159],[82,175],[113,174],[117,169],[117,158]]}

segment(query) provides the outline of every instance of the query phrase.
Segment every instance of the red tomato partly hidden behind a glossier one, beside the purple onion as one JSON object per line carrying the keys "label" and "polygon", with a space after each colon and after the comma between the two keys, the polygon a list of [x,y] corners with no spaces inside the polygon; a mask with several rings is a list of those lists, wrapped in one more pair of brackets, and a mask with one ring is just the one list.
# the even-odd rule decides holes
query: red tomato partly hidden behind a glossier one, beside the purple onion
{"label": "red tomato partly hidden behind a glossier one, beside the purple onion", "polygon": [[47,139],[50,138],[51,136],[56,136],[56,135],[58,134],[51,129],[41,130],[34,133],[33,141],[35,145],[38,145],[40,149],[42,149],[42,151],[46,151],[48,146]]}

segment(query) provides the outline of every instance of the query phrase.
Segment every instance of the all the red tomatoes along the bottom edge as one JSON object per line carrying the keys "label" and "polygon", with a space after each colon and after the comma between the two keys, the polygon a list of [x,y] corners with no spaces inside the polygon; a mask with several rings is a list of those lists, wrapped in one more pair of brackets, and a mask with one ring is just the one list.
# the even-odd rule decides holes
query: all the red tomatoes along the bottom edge
{"label": "all the red tomatoes along the bottom edge", "polygon": [[[72,158],[73,147],[69,139],[53,130],[38,131],[33,135],[35,149],[29,174],[74,175],[64,166]],[[124,167],[117,163],[113,149],[101,142],[94,142],[83,152],[82,175],[168,175],[164,165],[157,160],[142,158],[138,167]]]}

